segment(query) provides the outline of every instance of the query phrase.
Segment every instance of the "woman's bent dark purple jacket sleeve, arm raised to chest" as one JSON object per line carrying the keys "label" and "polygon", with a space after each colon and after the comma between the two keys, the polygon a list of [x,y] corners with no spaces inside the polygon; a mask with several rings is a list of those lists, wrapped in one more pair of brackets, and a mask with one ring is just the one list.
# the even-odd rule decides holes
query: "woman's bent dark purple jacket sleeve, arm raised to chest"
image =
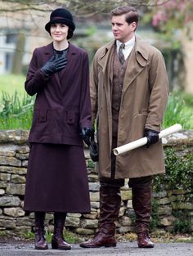
{"label": "woman's bent dark purple jacket sleeve, arm raised to chest", "polygon": [[46,74],[41,70],[42,65],[39,64],[40,53],[38,48],[34,50],[32,59],[29,64],[29,70],[27,78],[25,81],[25,91],[28,92],[30,96],[43,90],[47,81],[50,79]]}

